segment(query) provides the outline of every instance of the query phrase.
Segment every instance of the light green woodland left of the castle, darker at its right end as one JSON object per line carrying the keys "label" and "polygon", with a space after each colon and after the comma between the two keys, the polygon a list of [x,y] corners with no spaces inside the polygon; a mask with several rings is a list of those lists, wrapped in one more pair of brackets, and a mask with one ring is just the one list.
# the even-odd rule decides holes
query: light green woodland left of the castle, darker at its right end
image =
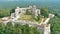
{"label": "light green woodland left of the castle, darker at its right end", "polygon": [[0,18],[3,18],[3,17],[8,17],[11,15],[11,13],[15,12],[15,9],[0,9]]}

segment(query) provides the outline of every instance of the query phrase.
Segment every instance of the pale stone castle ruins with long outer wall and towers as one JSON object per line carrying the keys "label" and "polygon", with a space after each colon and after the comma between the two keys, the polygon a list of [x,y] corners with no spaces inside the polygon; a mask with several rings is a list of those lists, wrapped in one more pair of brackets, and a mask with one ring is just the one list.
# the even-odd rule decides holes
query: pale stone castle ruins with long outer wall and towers
{"label": "pale stone castle ruins with long outer wall and towers", "polygon": [[54,17],[54,14],[49,14],[48,18],[46,18],[45,20],[42,19],[41,23],[31,22],[31,21],[26,21],[26,20],[18,20],[18,18],[20,18],[22,14],[26,13],[27,9],[31,13],[32,17],[36,18],[38,14],[41,15],[40,9],[37,9],[35,5],[29,6],[26,8],[17,7],[15,9],[15,12],[11,13],[11,16],[2,18],[2,23],[6,25],[8,22],[12,22],[12,24],[14,25],[13,22],[16,22],[16,23],[19,22],[21,24],[28,24],[30,26],[37,26],[41,34],[50,34],[51,32],[50,24],[48,24],[48,22],[51,18]]}

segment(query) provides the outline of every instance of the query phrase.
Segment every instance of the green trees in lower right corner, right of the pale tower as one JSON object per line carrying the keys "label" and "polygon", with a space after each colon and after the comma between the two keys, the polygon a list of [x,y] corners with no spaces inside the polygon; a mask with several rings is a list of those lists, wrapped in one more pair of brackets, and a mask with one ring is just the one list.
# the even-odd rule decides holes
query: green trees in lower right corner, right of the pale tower
{"label": "green trees in lower right corner, right of the pale tower", "polygon": [[55,16],[49,23],[51,24],[51,34],[60,34],[60,18]]}

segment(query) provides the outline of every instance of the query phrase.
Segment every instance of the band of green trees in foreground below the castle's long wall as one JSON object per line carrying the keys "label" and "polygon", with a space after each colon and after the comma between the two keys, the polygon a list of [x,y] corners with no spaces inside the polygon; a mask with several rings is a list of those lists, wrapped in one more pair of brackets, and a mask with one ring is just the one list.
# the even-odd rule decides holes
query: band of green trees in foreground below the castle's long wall
{"label": "band of green trees in foreground below the castle's long wall", "polygon": [[21,25],[16,23],[14,26],[11,22],[4,25],[0,23],[0,34],[40,34],[37,27]]}

